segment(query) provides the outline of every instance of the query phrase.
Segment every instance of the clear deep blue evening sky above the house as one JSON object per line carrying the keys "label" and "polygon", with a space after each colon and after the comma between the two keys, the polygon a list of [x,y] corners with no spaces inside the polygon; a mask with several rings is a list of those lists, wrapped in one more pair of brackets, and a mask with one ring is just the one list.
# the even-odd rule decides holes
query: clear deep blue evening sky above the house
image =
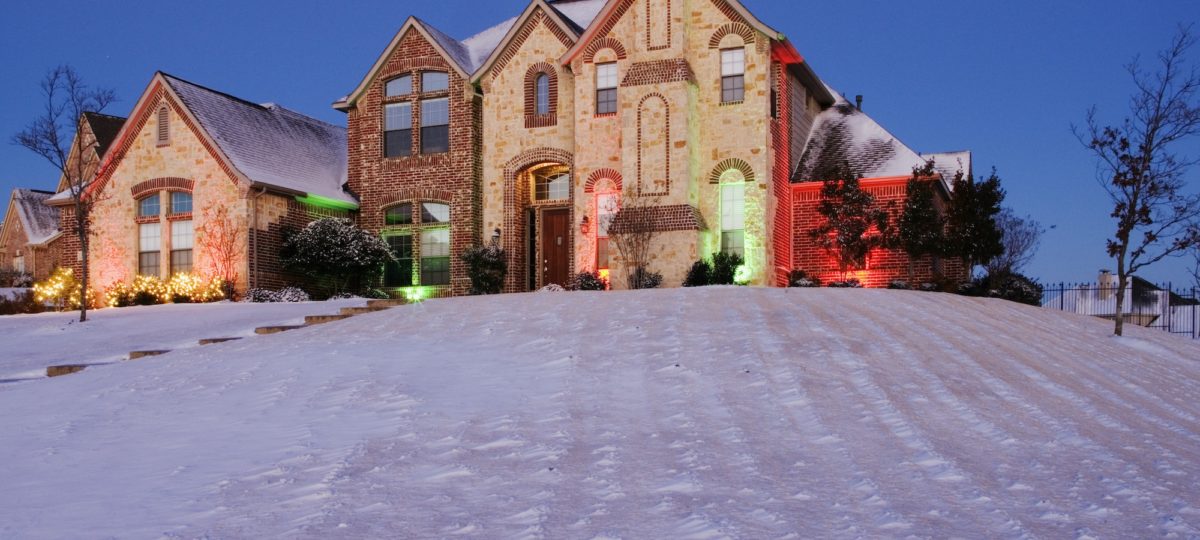
{"label": "clear deep blue evening sky above the house", "polygon": [[[1091,104],[1116,121],[1132,89],[1122,66],[1162,49],[1195,0],[744,0],[787,34],[832,86],[917,151],[970,149],[977,175],[996,167],[1007,204],[1046,226],[1028,274],[1091,281],[1111,268],[1110,204],[1070,133]],[[347,94],[409,14],[467,37],[522,0],[59,1],[0,8],[0,190],[52,190],[54,170],[8,138],[37,114],[37,83],[58,64],[116,90],[127,115],[162,70],[256,102],[344,125]],[[1192,54],[1200,65],[1200,48]],[[1192,144],[1200,149],[1200,142]],[[1193,170],[1193,186],[1200,185]],[[1144,272],[1187,281],[1175,259]]]}

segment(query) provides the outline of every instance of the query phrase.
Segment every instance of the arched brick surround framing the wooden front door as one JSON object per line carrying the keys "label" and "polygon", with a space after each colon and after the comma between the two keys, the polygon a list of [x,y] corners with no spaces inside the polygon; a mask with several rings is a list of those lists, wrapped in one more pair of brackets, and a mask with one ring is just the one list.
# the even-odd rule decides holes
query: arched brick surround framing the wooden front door
{"label": "arched brick surround framing the wooden front door", "polygon": [[[504,164],[504,229],[502,244],[509,256],[509,275],[504,280],[504,292],[526,290],[528,278],[528,224],[526,209],[530,205],[529,182],[521,181],[526,169],[558,163],[571,170],[570,199],[575,200],[575,156],[557,148],[535,148],[518,154]],[[571,223],[575,222],[575,205],[571,204]],[[574,259],[574,258],[572,258]]]}

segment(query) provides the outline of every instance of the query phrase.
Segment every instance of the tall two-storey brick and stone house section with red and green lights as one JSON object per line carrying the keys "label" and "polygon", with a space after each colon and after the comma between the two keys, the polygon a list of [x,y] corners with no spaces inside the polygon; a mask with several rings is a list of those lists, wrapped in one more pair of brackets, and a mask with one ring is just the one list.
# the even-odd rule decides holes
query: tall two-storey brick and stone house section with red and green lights
{"label": "tall two-storey brick and stone house section with red and green lights", "polygon": [[[970,173],[970,152],[905,146],[736,0],[533,0],[462,41],[409,18],[334,107],[348,114],[360,222],[401,259],[389,288],[464,292],[457,256],[496,234],[508,292],[578,271],[622,287],[629,269],[607,233],[635,199],[649,205],[650,270],[667,286],[719,251],[742,254],[754,284],[796,269],[830,280],[841,276],[808,234],[814,167],[848,161],[884,206],[902,204],[926,158],[943,204],[953,174]],[[870,286],[907,276],[907,258],[886,250],[854,274]]]}

